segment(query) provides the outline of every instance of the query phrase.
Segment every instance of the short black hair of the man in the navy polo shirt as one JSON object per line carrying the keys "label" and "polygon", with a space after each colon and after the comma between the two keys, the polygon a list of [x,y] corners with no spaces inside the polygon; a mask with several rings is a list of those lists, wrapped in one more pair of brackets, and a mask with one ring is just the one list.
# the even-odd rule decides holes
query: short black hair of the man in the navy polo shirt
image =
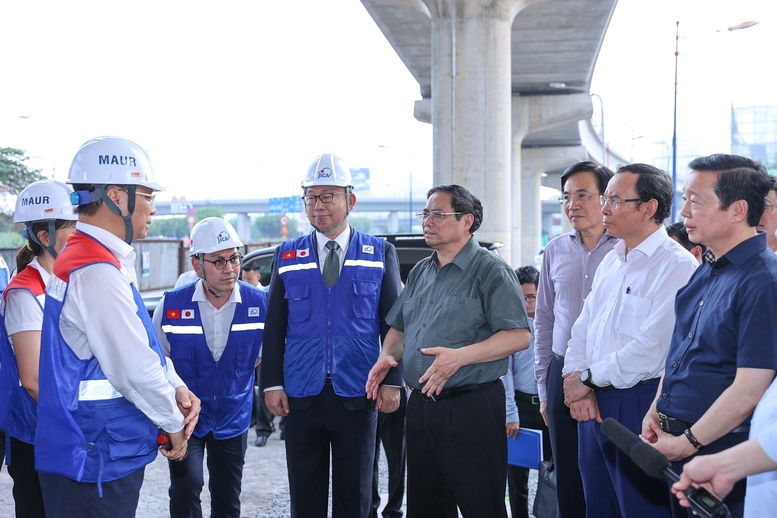
{"label": "short black hair of the man in the navy polo shirt", "polygon": [[718,173],[715,195],[720,200],[720,209],[726,210],[732,203],[745,200],[747,224],[758,225],[771,188],[769,173],[762,164],[744,156],[718,153],[692,160],[688,167]]}

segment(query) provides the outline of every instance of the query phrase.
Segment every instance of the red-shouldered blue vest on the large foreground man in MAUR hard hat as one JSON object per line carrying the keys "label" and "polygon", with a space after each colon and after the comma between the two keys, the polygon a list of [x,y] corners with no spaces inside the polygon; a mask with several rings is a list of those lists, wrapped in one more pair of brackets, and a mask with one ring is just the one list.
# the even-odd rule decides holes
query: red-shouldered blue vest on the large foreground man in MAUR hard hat
{"label": "red-shouldered blue vest on the large foreground man in MAUR hard hat", "polygon": [[[101,482],[125,477],[152,462],[157,456],[158,428],[110,385],[95,358],[79,359],[60,333],[68,289],[63,279],[95,263],[120,267],[107,248],[76,231],[57,257],[46,289],[35,468],[99,487]],[[143,299],[134,284],[131,287],[149,345],[164,366],[165,357]]]}

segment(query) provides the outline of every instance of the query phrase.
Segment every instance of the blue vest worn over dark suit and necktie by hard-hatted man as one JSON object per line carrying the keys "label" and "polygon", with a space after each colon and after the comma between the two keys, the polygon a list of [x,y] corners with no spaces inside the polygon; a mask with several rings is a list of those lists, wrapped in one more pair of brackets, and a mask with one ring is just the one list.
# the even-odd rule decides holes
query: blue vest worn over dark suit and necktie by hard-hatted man
{"label": "blue vest worn over dark suit and necktie by hard-hatted man", "polygon": [[367,374],[380,353],[378,306],[386,270],[385,242],[354,232],[340,277],[331,288],[316,262],[313,234],[280,248],[278,273],[289,307],[283,363],[286,393],[315,396],[329,373],[337,395],[364,396]]}

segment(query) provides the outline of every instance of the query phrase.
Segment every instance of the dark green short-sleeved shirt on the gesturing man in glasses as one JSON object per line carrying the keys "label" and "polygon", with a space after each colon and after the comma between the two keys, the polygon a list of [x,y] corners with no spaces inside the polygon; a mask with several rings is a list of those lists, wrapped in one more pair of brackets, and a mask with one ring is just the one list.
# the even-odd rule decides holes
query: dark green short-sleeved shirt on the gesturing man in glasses
{"label": "dark green short-sleeved shirt on the gesturing man in glasses", "polygon": [[[518,277],[503,259],[478,245],[474,236],[442,268],[437,252],[419,262],[386,322],[405,333],[402,365],[405,382],[420,389],[418,379],[434,361],[428,347],[458,349],[482,342],[499,331],[528,328]],[[507,372],[507,358],[467,365],[445,389],[494,381]]]}

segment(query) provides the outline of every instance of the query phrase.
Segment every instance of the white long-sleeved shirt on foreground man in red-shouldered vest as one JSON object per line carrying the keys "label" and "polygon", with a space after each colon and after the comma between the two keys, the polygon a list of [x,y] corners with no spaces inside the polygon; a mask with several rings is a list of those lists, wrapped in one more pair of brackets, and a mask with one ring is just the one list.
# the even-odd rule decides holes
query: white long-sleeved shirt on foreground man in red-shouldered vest
{"label": "white long-sleeved shirt on foreground man in red-shouldered vest", "polygon": [[137,286],[135,249],[94,225],[79,221],[76,230],[107,247],[121,269],[97,263],[71,273],[59,320],[62,336],[81,360],[96,358],[111,385],[154,424],[170,433],[181,431],[184,417],[174,387],[184,383],[169,358],[167,371],[161,367],[137,316],[130,287]]}

